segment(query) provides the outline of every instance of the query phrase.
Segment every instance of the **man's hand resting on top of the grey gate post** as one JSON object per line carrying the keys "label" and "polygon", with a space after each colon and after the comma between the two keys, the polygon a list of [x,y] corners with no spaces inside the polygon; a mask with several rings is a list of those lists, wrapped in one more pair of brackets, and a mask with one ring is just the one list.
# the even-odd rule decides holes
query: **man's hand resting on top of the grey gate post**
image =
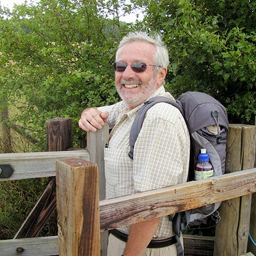
{"label": "man's hand resting on top of the grey gate post", "polygon": [[109,114],[107,111],[102,112],[97,108],[87,108],[82,112],[78,125],[86,132],[96,132],[102,128]]}

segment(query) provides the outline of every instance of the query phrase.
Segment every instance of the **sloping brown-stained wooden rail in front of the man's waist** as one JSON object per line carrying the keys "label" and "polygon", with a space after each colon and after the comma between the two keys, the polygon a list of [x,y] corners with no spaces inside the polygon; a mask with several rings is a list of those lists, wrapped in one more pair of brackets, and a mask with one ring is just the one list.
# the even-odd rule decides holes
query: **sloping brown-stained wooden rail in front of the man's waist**
{"label": "sloping brown-stained wooden rail in front of the man's waist", "polygon": [[142,222],[256,191],[256,169],[100,201],[100,229]]}

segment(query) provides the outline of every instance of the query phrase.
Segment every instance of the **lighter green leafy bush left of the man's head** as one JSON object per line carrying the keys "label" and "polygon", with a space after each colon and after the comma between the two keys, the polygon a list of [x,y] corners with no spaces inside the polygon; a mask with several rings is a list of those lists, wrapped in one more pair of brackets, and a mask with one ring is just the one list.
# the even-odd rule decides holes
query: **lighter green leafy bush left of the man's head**
{"label": "lighter green leafy bush left of the man's head", "polygon": [[1,95],[8,105],[19,102],[10,125],[30,130],[41,150],[47,119],[77,124],[85,106],[117,101],[110,66],[121,24],[104,17],[108,6],[91,2],[40,1],[1,20]]}

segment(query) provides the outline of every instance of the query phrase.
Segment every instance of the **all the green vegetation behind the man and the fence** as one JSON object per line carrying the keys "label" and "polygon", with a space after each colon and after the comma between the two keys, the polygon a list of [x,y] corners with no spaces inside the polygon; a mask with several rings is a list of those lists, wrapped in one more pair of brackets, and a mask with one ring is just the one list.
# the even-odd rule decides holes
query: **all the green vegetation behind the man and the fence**
{"label": "all the green vegetation behind the man and the fence", "polygon": [[[137,8],[145,9],[143,21],[120,21]],[[45,121],[54,117],[73,117],[79,147],[80,112],[119,100],[112,64],[120,38],[134,29],[162,34],[174,96],[204,91],[227,107],[229,122],[253,124],[255,8],[251,0],[41,0],[0,8],[0,152],[45,150]],[[45,183],[1,184],[1,239],[12,237],[6,232],[15,233]]]}

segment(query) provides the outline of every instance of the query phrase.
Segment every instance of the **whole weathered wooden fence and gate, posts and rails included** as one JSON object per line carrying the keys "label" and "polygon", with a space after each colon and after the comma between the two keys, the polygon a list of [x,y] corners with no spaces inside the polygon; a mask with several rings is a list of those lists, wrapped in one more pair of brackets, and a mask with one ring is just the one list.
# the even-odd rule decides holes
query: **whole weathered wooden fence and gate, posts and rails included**
{"label": "whole weathered wooden fence and gate, posts and rails included", "polygon": [[[54,119],[50,127],[55,128],[47,130],[53,131],[47,132],[47,137],[52,137],[51,141],[58,145],[54,150],[72,146],[70,139],[70,143],[64,143],[65,136],[60,135],[65,130],[72,137],[67,132],[70,130],[63,128],[64,122],[70,123],[66,119]],[[59,252],[60,255],[106,255],[108,229],[220,201],[225,202],[220,209],[222,218],[215,238],[185,236],[185,255],[239,256],[246,253],[247,244],[256,255],[255,246],[248,242],[249,226],[255,238],[255,193],[251,204],[251,194],[256,191],[255,126],[230,126],[226,166],[230,173],[110,200],[104,200],[103,150],[107,141],[108,128],[104,126],[99,132],[87,135],[87,150],[0,154],[1,166],[12,165],[14,169],[10,178],[0,181],[56,175],[59,231],[53,237],[19,239],[24,236],[16,234],[16,239],[1,240],[0,255],[58,255]],[[50,216],[56,201],[49,194],[47,198],[51,198],[51,204],[47,205],[47,216]],[[21,227],[23,231],[17,233],[33,233],[28,230],[34,219],[39,225],[41,217],[32,214]]]}

